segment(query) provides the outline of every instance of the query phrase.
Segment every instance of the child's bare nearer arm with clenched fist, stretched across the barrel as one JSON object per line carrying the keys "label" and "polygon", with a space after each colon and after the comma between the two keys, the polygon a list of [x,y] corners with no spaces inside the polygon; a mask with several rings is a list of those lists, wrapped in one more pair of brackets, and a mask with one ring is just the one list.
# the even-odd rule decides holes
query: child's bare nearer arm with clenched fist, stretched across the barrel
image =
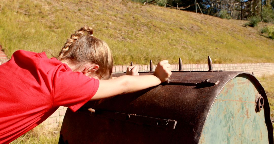
{"label": "child's bare nearer arm with clenched fist, stretched across the barrel", "polygon": [[100,80],[99,88],[91,100],[112,97],[159,85],[171,75],[171,67],[167,60],[158,63],[153,75],[120,76],[116,79]]}

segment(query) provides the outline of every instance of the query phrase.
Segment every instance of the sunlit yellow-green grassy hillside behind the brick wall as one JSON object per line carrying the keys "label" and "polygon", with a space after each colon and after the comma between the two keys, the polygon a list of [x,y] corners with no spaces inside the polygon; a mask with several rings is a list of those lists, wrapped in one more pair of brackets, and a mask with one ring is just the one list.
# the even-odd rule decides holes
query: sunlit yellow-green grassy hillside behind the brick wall
{"label": "sunlit yellow-green grassy hillside behind the brick wall", "polygon": [[15,50],[59,53],[66,39],[84,25],[112,49],[115,65],[274,62],[274,41],[259,34],[267,25],[142,5],[130,0],[0,0],[0,44]]}

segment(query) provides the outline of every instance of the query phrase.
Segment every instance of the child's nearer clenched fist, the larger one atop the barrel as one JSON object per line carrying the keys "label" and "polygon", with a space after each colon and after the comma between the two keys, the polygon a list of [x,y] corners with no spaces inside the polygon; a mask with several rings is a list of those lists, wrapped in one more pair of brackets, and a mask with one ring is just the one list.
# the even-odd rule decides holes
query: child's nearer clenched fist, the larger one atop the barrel
{"label": "child's nearer clenched fist, the larger one atop the barrel", "polygon": [[167,81],[167,79],[171,76],[171,65],[168,62],[169,61],[167,60],[160,61],[153,73],[153,75],[158,77],[161,82]]}

